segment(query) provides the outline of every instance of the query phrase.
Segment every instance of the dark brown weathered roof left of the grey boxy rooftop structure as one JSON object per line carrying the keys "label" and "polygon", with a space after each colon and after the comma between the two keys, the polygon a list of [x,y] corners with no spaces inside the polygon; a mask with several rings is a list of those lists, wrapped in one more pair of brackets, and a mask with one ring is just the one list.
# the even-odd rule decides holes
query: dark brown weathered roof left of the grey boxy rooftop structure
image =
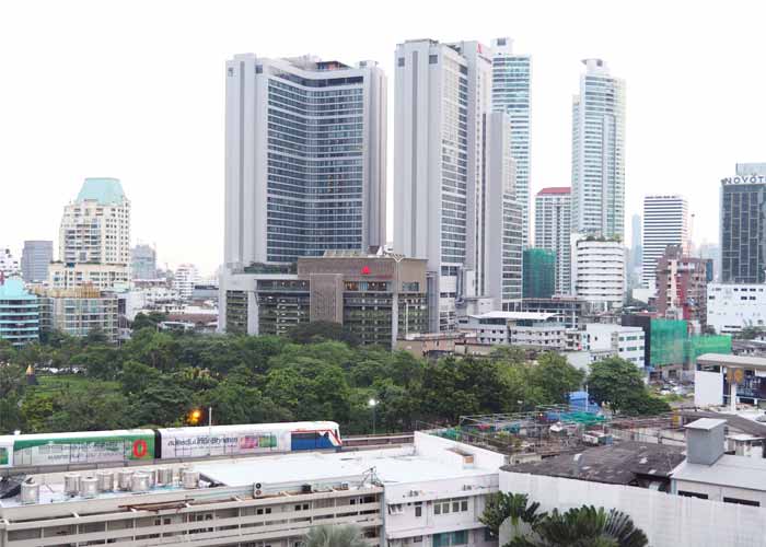
{"label": "dark brown weathered roof left of the grey boxy rooftop structure", "polygon": [[[580,456],[577,461],[576,456]],[[634,441],[593,446],[579,454],[560,454],[541,462],[507,465],[503,470],[593,482],[629,485],[637,476],[668,478],[684,461],[683,447]]]}

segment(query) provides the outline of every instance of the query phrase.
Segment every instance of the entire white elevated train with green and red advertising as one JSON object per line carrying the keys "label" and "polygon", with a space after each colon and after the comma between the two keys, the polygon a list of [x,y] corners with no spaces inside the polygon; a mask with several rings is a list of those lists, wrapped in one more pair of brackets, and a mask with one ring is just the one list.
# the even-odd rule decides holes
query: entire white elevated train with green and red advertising
{"label": "entire white elevated train with green and red advertising", "polygon": [[0,468],[248,455],[343,446],[334,421],[0,435]]}

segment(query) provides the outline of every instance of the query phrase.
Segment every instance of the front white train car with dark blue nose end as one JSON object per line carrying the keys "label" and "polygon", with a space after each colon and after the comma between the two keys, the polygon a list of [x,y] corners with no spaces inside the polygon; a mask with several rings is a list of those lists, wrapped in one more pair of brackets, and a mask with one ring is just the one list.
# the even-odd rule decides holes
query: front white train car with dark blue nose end
{"label": "front white train car with dark blue nose end", "polygon": [[343,445],[334,421],[245,423],[156,431],[158,458],[205,457],[336,449]]}

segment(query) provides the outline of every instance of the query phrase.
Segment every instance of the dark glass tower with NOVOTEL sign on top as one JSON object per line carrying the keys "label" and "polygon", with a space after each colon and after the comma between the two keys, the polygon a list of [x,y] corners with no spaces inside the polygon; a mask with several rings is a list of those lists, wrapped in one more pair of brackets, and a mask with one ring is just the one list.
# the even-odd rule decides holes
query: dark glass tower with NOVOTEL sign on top
{"label": "dark glass tower with NOVOTEL sign on top", "polygon": [[721,282],[766,282],[765,207],[766,164],[738,163],[721,179]]}

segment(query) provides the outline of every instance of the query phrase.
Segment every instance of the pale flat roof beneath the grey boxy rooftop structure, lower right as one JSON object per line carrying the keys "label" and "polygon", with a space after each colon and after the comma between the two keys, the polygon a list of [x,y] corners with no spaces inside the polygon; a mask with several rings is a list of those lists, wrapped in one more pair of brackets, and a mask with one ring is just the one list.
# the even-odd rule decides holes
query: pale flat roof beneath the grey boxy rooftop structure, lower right
{"label": "pale flat roof beneath the grey boxy rooftop structure, lower right", "polygon": [[712,465],[683,462],[673,470],[673,478],[766,491],[766,459],[726,454]]}

